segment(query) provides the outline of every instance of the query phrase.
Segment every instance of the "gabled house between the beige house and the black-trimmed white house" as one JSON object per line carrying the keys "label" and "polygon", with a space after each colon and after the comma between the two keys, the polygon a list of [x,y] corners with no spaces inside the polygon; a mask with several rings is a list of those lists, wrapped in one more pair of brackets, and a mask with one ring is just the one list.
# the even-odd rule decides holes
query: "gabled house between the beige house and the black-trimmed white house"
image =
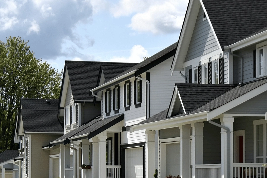
{"label": "gabled house between the beige house and the black-trimmed white house", "polygon": [[[43,148],[47,152],[59,149],[58,177],[92,177],[92,170],[96,169],[96,166],[90,163],[93,157],[89,156],[92,155],[93,145],[88,139],[80,138],[87,138],[88,133],[98,133],[99,129],[102,130],[108,123],[99,125],[103,123],[99,120],[103,104],[90,95],[90,90],[135,65],[136,63],[97,61],[65,62],[58,103],[58,117],[64,120],[64,135],[51,140],[49,145]],[[114,119],[115,121],[106,121],[117,122],[120,117]],[[85,129],[89,131],[84,132]],[[80,133],[82,135],[79,135]],[[106,140],[104,142],[106,144]],[[82,171],[82,164],[91,164],[92,169]],[[53,168],[51,163],[50,172],[53,172]]]}

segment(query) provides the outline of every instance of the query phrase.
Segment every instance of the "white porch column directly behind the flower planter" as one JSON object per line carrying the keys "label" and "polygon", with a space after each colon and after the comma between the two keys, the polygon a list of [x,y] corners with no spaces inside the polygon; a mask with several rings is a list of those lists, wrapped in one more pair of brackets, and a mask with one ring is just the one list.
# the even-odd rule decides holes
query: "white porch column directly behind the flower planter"
{"label": "white porch column directly behind the flower planter", "polygon": [[[82,164],[90,164],[89,163],[89,144],[90,142],[87,139],[82,140]],[[91,155],[92,159],[92,155]],[[82,169],[82,178],[89,178],[89,170]]]}

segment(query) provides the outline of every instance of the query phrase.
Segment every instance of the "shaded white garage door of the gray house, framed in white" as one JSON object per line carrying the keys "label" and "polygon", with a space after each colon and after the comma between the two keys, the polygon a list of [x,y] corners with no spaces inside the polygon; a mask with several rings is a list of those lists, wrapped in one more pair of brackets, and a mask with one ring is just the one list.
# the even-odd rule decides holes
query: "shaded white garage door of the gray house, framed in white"
{"label": "shaded white garage door of the gray house, framed in white", "polygon": [[166,144],[166,176],[180,175],[180,143]]}

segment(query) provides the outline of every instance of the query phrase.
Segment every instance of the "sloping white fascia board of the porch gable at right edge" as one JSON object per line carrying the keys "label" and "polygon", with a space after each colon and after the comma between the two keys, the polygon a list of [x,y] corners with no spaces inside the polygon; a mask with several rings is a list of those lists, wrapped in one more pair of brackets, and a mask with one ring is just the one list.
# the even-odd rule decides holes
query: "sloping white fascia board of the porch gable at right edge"
{"label": "sloping white fascia board of the porch gable at right edge", "polygon": [[217,116],[219,116],[220,114],[228,111],[229,109],[232,109],[236,106],[238,106],[239,104],[244,103],[245,101],[248,101],[249,99],[265,92],[267,90],[267,83],[260,85],[259,87],[245,93],[242,96],[239,96],[236,99],[233,99],[232,101],[210,111],[209,113],[207,113],[207,120],[211,120]]}

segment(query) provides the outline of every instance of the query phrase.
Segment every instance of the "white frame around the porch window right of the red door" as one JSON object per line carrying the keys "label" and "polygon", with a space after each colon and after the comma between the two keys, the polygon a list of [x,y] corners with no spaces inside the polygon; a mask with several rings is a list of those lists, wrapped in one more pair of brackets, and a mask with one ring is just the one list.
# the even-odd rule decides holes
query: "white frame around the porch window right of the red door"
{"label": "white frame around the porch window right of the red door", "polygon": [[[263,156],[256,156],[256,126],[263,125]],[[263,158],[263,163],[267,162],[267,154],[266,154],[266,125],[267,120],[260,119],[253,121],[253,146],[254,146],[254,163],[256,163],[256,159]]]}

